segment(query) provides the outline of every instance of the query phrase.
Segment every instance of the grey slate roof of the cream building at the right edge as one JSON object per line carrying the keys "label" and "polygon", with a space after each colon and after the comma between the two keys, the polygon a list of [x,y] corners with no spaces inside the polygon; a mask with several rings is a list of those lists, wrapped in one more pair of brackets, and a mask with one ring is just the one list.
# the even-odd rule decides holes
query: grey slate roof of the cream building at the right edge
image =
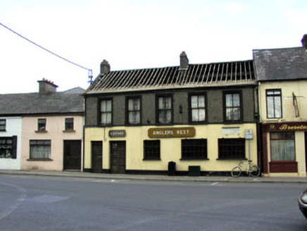
{"label": "grey slate roof of the cream building at the right edge", "polygon": [[303,47],[253,50],[259,81],[307,79],[307,52]]}

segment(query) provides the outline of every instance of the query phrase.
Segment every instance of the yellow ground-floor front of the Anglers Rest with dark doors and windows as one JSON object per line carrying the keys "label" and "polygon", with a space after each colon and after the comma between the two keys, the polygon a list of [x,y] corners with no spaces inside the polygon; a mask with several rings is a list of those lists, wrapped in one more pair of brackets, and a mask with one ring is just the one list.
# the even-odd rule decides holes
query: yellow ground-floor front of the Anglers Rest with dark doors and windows
{"label": "yellow ground-floor front of the Anglers Rest with dark doors and windows", "polygon": [[258,164],[255,135],[255,124],[87,127],[84,170],[166,175],[175,163],[177,175],[188,175],[191,166],[201,175],[226,175],[239,160]]}

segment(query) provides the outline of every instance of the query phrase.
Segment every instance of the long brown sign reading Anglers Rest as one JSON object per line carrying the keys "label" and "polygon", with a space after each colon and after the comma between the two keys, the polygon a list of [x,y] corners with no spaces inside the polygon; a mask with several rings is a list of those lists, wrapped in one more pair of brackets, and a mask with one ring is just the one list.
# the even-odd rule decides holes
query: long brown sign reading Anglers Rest
{"label": "long brown sign reading Anglers Rest", "polygon": [[161,127],[149,128],[149,138],[194,137],[195,127]]}

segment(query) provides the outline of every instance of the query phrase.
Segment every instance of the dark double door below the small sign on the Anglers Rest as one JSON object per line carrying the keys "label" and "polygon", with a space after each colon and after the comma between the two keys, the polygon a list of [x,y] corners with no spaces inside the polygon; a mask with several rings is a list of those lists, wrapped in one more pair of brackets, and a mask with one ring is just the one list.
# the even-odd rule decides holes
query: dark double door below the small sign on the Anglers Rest
{"label": "dark double door below the small sign on the Anglers Rest", "polygon": [[126,173],[126,142],[110,142],[111,173]]}

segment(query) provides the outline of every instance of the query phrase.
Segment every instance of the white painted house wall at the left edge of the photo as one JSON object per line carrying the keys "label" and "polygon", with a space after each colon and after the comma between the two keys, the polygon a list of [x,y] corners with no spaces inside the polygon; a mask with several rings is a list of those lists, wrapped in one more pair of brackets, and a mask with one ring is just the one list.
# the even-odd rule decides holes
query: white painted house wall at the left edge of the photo
{"label": "white painted house wall at the left edge of the photo", "polygon": [[6,120],[6,131],[0,132],[0,137],[17,136],[17,152],[16,158],[0,158],[0,169],[4,170],[20,170],[20,156],[21,156],[21,117],[0,117]]}

